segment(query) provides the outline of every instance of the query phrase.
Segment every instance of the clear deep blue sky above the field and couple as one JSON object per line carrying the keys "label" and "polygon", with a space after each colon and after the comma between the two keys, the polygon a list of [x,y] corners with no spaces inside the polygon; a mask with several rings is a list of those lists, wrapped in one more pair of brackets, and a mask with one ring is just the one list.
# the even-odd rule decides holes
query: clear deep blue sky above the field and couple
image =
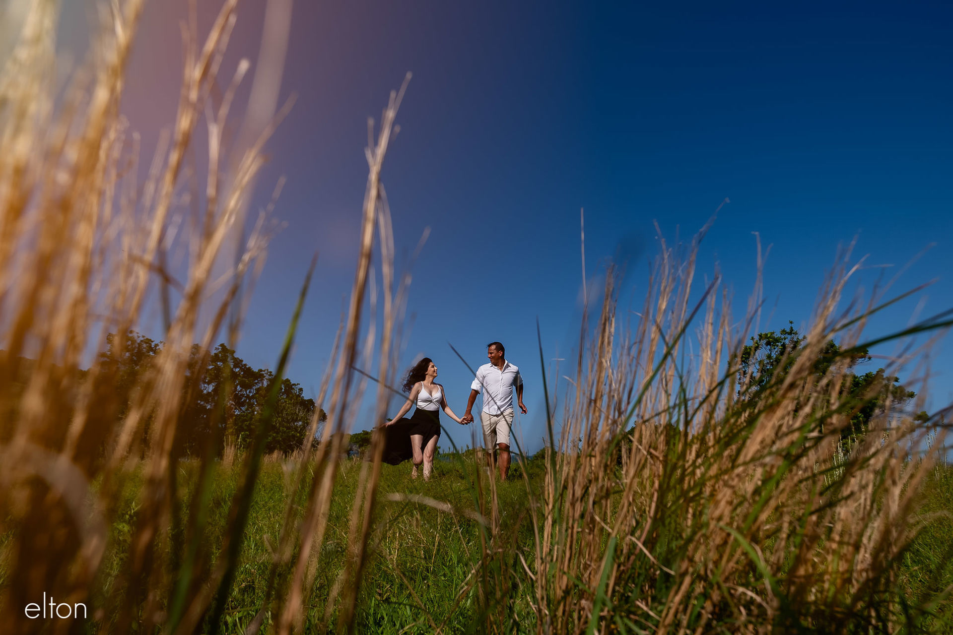
{"label": "clear deep blue sky above the field and couple", "polygon": [[[234,59],[256,57],[260,4],[240,5]],[[856,257],[893,266],[888,276],[933,245],[896,289],[938,278],[923,315],[950,308],[953,9],[833,4],[297,2],[282,94],[298,98],[259,181],[267,194],[288,177],[276,209],[288,227],[239,354],[274,366],[316,250],[289,374],[307,392],[319,386],[353,280],[366,119],[408,70],[383,173],[398,259],[431,234],[413,268],[401,363],[434,358],[461,413],[470,377],[448,342],[476,366],[483,345],[502,341],[524,369],[530,449],[542,434],[537,318],[547,359],[576,343],[579,208],[587,272],[622,253],[635,297],[657,249],[653,221],[670,241],[688,238],[729,198],[700,274],[717,263],[742,309],[759,232],[771,246],[763,329],[806,324],[838,246],[854,237]],[[184,6],[149,5],[134,51],[123,108],[147,146],[172,120]],[[859,280],[870,288],[882,273]],[[905,326],[917,303],[869,334]],[[931,354],[933,407],[953,401],[949,351]]]}

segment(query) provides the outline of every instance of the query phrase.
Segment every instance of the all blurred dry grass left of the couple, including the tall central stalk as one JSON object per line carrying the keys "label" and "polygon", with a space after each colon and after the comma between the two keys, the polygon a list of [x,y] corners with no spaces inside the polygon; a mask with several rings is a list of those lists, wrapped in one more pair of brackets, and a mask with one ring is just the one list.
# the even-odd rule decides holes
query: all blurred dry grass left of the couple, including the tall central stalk
{"label": "all blurred dry grass left of the couple, including the tall central stalk", "polygon": [[[180,508],[178,471],[184,457],[177,454],[175,440],[193,424],[185,415],[202,379],[195,368],[205,367],[204,360],[195,363],[190,354],[198,342],[207,356],[230,315],[239,316],[229,324],[230,342],[237,335],[243,309],[237,300],[250,274],[260,268],[274,228],[267,213],[258,218],[226,275],[213,279],[213,273],[229,255],[223,254],[229,236],[242,234],[243,211],[264,162],[263,145],[290,103],[227,167],[223,132],[235,90],[250,65],[242,60],[222,84],[221,65],[237,6],[226,0],[204,41],[194,20],[185,31],[185,71],[172,132],[160,139],[148,180],[138,183],[139,140],[129,133],[118,104],[142,4],[97,5],[101,20],[90,58],[60,98],[53,84],[56,6],[34,3],[0,84],[0,325],[5,348],[0,366],[0,508],[2,531],[12,532],[2,605],[10,609],[15,632],[35,627],[15,607],[37,602],[44,592],[57,602],[98,606],[95,624],[107,632],[218,630],[278,386],[312,275],[309,271],[306,276],[251,449],[236,456],[233,439],[216,438],[228,424],[223,394],[218,419],[204,439],[189,509]],[[293,497],[274,552],[266,602],[250,632],[261,627],[267,613],[276,616],[278,632],[302,628],[315,554],[327,530],[344,439],[340,432],[354,415],[348,404],[363,389],[352,385],[358,350],[376,348],[380,376],[393,378],[393,325],[402,295],[398,290],[395,297],[389,266],[393,241],[379,175],[403,90],[392,94],[376,140],[369,139],[354,292],[335,345],[334,366],[318,396],[319,403],[328,404],[330,416],[316,450],[309,446],[295,455],[290,488],[307,491],[303,513]],[[208,129],[205,191],[193,205],[183,206],[186,156],[203,117]],[[359,332],[368,313],[375,231],[385,263],[384,324],[376,343],[373,323],[363,338]],[[183,264],[172,267],[170,254],[176,248],[187,255]],[[407,282],[402,281],[402,288]],[[171,290],[178,292],[175,303]],[[80,370],[84,354],[103,349],[109,333],[116,334],[113,358],[123,356],[125,334],[143,322],[150,299],[164,318],[164,346],[128,393],[117,393],[118,369],[110,360],[97,359]],[[376,301],[373,293],[372,308]],[[377,408],[381,418],[384,404]],[[318,427],[315,413],[309,445]],[[230,506],[230,531],[213,549],[206,535],[208,505],[217,463],[214,448],[223,442],[225,461],[242,462],[241,478]],[[112,572],[112,593],[102,594],[97,584],[102,582],[110,527],[120,501],[130,495],[126,485],[136,470],[143,483],[132,492],[137,500],[129,552],[120,570]],[[329,600],[327,622],[335,618],[353,624],[352,589],[359,585],[365,560],[360,545],[366,542],[377,474],[375,467],[363,478],[367,502],[355,504],[352,528],[360,540],[354,541],[354,564],[342,577],[340,602],[337,595]]]}

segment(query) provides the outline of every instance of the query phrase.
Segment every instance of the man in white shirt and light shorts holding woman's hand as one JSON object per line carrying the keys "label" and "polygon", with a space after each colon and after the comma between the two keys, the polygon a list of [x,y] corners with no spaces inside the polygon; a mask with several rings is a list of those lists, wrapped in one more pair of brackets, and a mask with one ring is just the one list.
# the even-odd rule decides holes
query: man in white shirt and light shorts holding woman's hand
{"label": "man in white shirt and light shorts holding woman's hand", "polygon": [[493,342],[486,347],[486,356],[489,364],[476,369],[476,378],[470,389],[470,399],[467,401],[467,411],[461,417],[463,423],[469,424],[474,420],[471,410],[476,402],[476,395],[483,393],[483,410],[480,412],[480,423],[483,425],[483,446],[487,451],[487,465],[494,466],[494,452],[499,452],[496,461],[499,466],[499,478],[506,480],[510,470],[510,430],[513,427],[513,388],[517,389],[517,405],[519,411],[526,414],[523,406],[523,379],[519,376],[519,368],[506,361],[506,349],[499,342]]}

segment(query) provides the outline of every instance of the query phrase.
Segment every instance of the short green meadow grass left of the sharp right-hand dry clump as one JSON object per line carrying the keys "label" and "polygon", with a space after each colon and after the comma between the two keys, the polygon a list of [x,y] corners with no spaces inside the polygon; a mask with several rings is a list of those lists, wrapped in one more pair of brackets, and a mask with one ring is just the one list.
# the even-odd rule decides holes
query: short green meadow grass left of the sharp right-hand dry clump
{"label": "short green meadow grass left of the sharp right-hand dry clump", "polygon": [[[444,632],[475,632],[480,630],[476,620],[475,590],[458,597],[458,593],[473,576],[480,558],[481,546],[478,523],[465,513],[436,509],[413,500],[389,500],[397,494],[401,499],[416,496],[449,504],[456,511],[473,511],[472,474],[461,466],[463,459],[472,458],[443,454],[436,461],[435,478],[430,483],[412,479],[410,464],[383,466],[379,493],[383,503],[375,510],[378,524],[372,539],[371,558],[360,595],[357,612],[357,632],[433,632],[434,625],[442,625]],[[321,549],[319,570],[315,579],[314,595],[308,607],[305,629],[313,632],[323,622],[325,605],[340,576],[347,557],[348,520],[354,504],[359,459],[346,459],[335,482],[330,509],[328,535]],[[289,464],[275,456],[263,465],[254,489],[246,538],[237,566],[232,595],[223,619],[223,631],[243,633],[265,601],[266,580],[274,558],[276,536],[281,531],[285,506],[288,504]],[[544,471],[542,461],[527,463],[532,482],[538,484]],[[177,508],[183,517],[177,526],[187,526],[188,501],[193,495],[198,477],[198,462],[183,461],[179,466],[180,494]],[[514,535],[523,549],[532,548],[530,527],[525,523],[528,511],[526,485],[522,469],[514,466],[509,481],[497,488],[501,528]],[[220,546],[229,531],[228,511],[239,484],[240,462],[215,466],[213,495],[209,506],[209,522],[203,543],[210,549],[211,560],[219,557]],[[123,486],[121,503],[116,509],[112,525],[110,548],[104,558],[96,589],[91,594],[91,616],[83,632],[111,632],[116,615],[106,613],[104,607],[122,605],[124,589],[117,586],[119,572],[126,566],[130,553],[132,527],[136,523],[137,506],[143,486],[141,467],[129,472]],[[298,496],[298,506],[304,504]],[[11,584],[10,571],[5,565],[10,537],[19,527],[9,526],[0,537],[0,589]],[[174,544],[174,541],[169,541]],[[514,606],[518,620],[527,630],[534,630],[535,618],[525,602]],[[98,611],[98,612],[96,612]],[[334,616],[333,616],[334,617]],[[142,616],[138,616],[141,620]],[[263,630],[270,630],[270,616]],[[209,625],[204,625],[203,630]]]}

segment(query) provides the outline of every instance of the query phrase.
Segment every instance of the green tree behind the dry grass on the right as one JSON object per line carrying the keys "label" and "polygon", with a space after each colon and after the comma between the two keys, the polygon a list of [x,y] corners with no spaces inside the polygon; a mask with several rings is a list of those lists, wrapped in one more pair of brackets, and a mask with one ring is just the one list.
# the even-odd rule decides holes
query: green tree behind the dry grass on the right
{"label": "green tree behind the dry grass on the right", "polygon": [[[780,331],[767,331],[751,338],[751,343],[741,349],[739,386],[745,387],[740,397],[755,402],[760,399],[768,387],[777,386],[794,366],[803,350],[804,340],[793,322]],[[834,340],[827,341],[814,361],[813,374],[815,386],[826,375],[838,359],[845,355],[847,376],[841,385],[841,397],[851,405],[853,414],[850,427],[841,433],[842,438],[859,436],[866,432],[870,420],[881,414],[887,404],[903,407],[917,396],[913,390],[903,387],[899,377],[888,376],[883,368],[863,374],[853,372],[854,367],[871,361],[870,351],[866,348],[851,349],[844,352]],[[747,385],[745,385],[747,381]],[[923,419],[923,414],[918,415]]]}

